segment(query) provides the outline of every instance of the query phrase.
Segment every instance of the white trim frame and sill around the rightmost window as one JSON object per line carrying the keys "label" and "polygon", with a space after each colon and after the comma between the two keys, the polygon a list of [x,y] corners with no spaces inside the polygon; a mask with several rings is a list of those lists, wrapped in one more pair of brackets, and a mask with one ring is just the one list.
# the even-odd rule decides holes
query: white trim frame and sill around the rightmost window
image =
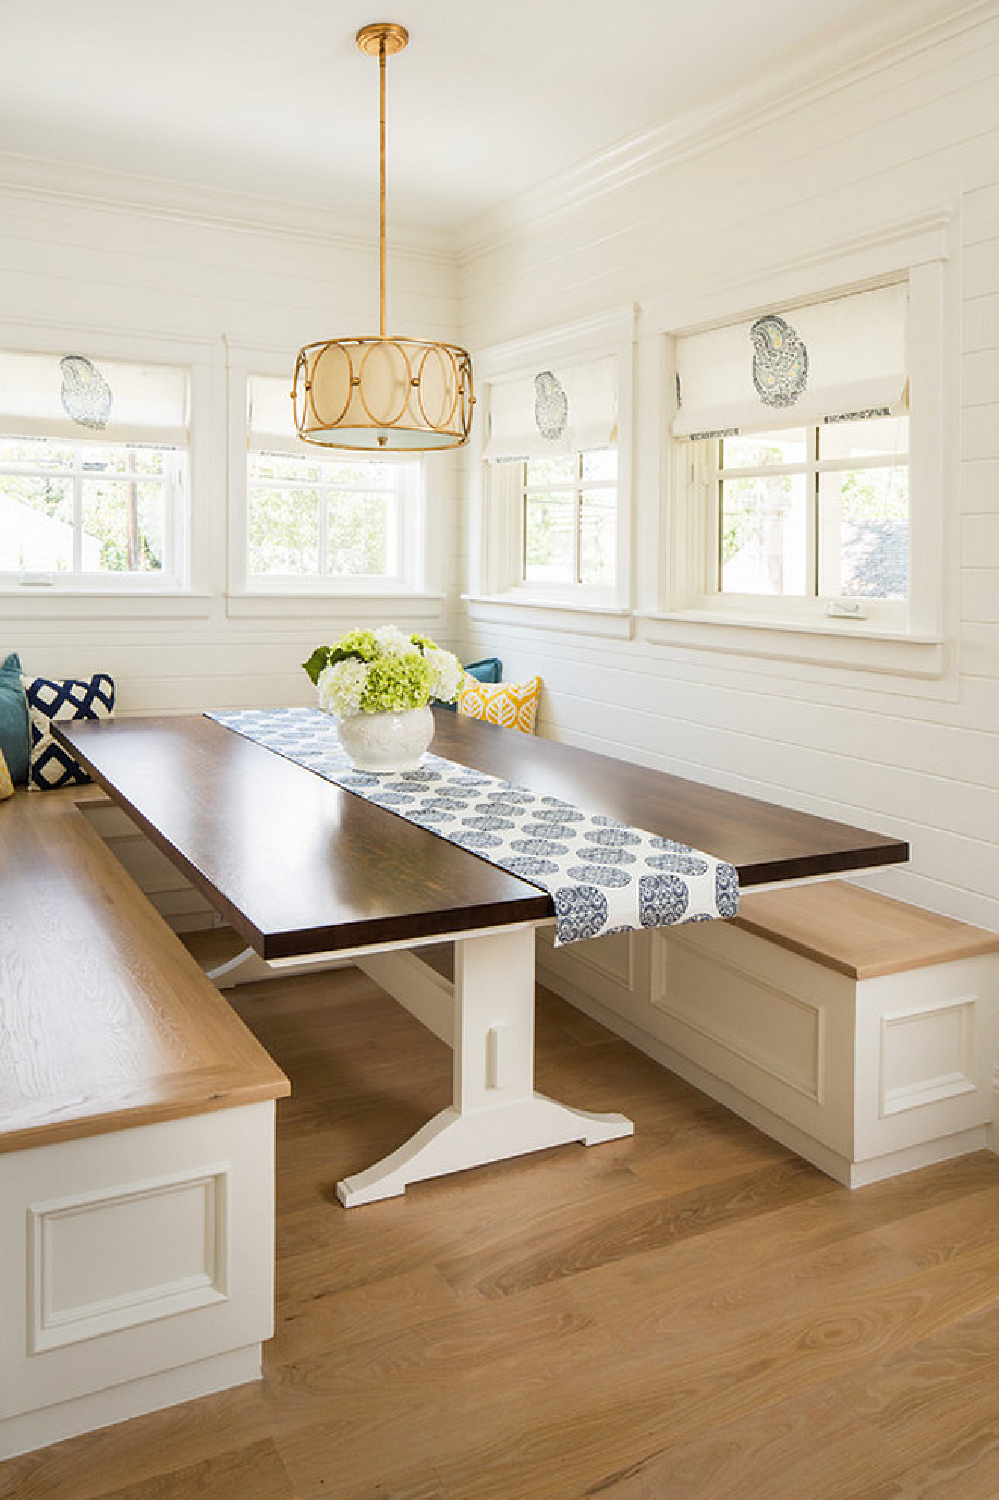
{"label": "white trim frame and sill around the rightmost window", "polygon": [[[939,676],[951,666],[954,538],[946,496],[958,492],[957,394],[960,285],[952,243],[956,214],[940,212],[873,232],[822,258],[808,258],[681,309],[664,297],[644,309],[658,342],[660,494],[657,536],[642,549],[658,561],[639,579],[640,634],[656,644],[783,657],[910,676]],[[674,339],[738,321],[776,304],[794,308],[824,297],[909,282],[910,375],[910,573],[909,602],[867,620],[834,618],[820,600],[747,600],[704,590],[708,508],[692,507],[686,444],[669,430],[675,369]],[[951,506],[950,512],[956,513]],[[806,606],[806,608],[802,608]]]}

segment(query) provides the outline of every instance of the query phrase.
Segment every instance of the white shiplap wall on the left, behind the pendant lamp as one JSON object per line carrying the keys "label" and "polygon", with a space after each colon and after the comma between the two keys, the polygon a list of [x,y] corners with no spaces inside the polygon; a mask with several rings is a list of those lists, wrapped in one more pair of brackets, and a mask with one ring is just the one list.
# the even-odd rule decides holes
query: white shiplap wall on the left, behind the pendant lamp
{"label": "white shiplap wall on the left, behind the pendant lamp", "polygon": [[[174,342],[202,357],[262,370],[291,369],[294,351],[324,334],[376,328],[376,222],[340,224],[333,214],[270,206],[224,194],[141,183],[102,172],[0,158],[0,346],[48,348],[105,357],[166,357]],[[388,306],[406,332],[453,338],[458,326],[454,260],[429,232],[394,236]],[[57,342],[58,346],[58,342]],[[141,604],[130,614],[93,602],[56,602],[27,591],[0,594],[0,656],[21,652],[39,675],[117,680],[123,712],[310,700],[298,663],[321,640],[363,622],[396,620],[442,644],[456,634],[459,556],[452,518],[458,464],[438,458],[428,500],[436,516],[434,558],[442,603],[411,614],[384,606],[318,602],[290,614],[226,614],[226,465],[224,381],[208,416],[218,478],[195,494],[201,528],[195,566],[204,598]],[[303,450],[304,452],[304,450]]]}

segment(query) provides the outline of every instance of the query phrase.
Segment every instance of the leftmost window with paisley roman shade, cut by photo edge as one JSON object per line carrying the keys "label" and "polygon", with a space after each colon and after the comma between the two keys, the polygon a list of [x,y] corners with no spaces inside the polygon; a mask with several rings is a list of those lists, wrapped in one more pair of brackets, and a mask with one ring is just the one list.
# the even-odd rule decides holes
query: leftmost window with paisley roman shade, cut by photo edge
{"label": "leftmost window with paisley roman shade, cut by photo edge", "polygon": [[178,586],[188,372],[0,354],[0,574]]}

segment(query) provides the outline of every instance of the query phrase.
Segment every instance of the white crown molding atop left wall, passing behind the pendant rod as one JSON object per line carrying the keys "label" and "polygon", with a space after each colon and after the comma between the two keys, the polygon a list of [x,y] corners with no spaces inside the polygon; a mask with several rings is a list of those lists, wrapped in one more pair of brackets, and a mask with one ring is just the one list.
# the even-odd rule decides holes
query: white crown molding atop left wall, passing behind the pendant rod
{"label": "white crown molding atop left wall, passing behind the pendant rod", "polygon": [[[330,249],[370,254],[372,248],[378,248],[378,224],[374,218],[9,152],[0,152],[0,195],[220,228],[236,234],[315,240]],[[393,256],[454,264],[453,236],[418,225],[393,226],[390,252]]]}

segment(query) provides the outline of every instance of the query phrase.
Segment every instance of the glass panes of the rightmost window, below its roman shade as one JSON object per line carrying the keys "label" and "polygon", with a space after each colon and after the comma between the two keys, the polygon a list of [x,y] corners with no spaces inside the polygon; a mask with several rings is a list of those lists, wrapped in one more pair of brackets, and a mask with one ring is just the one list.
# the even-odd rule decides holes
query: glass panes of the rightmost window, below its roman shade
{"label": "glass panes of the rightmost window, below its roman shade", "polygon": [[906,600],[908,442],[906,416],[712,442],[718,591]]}

